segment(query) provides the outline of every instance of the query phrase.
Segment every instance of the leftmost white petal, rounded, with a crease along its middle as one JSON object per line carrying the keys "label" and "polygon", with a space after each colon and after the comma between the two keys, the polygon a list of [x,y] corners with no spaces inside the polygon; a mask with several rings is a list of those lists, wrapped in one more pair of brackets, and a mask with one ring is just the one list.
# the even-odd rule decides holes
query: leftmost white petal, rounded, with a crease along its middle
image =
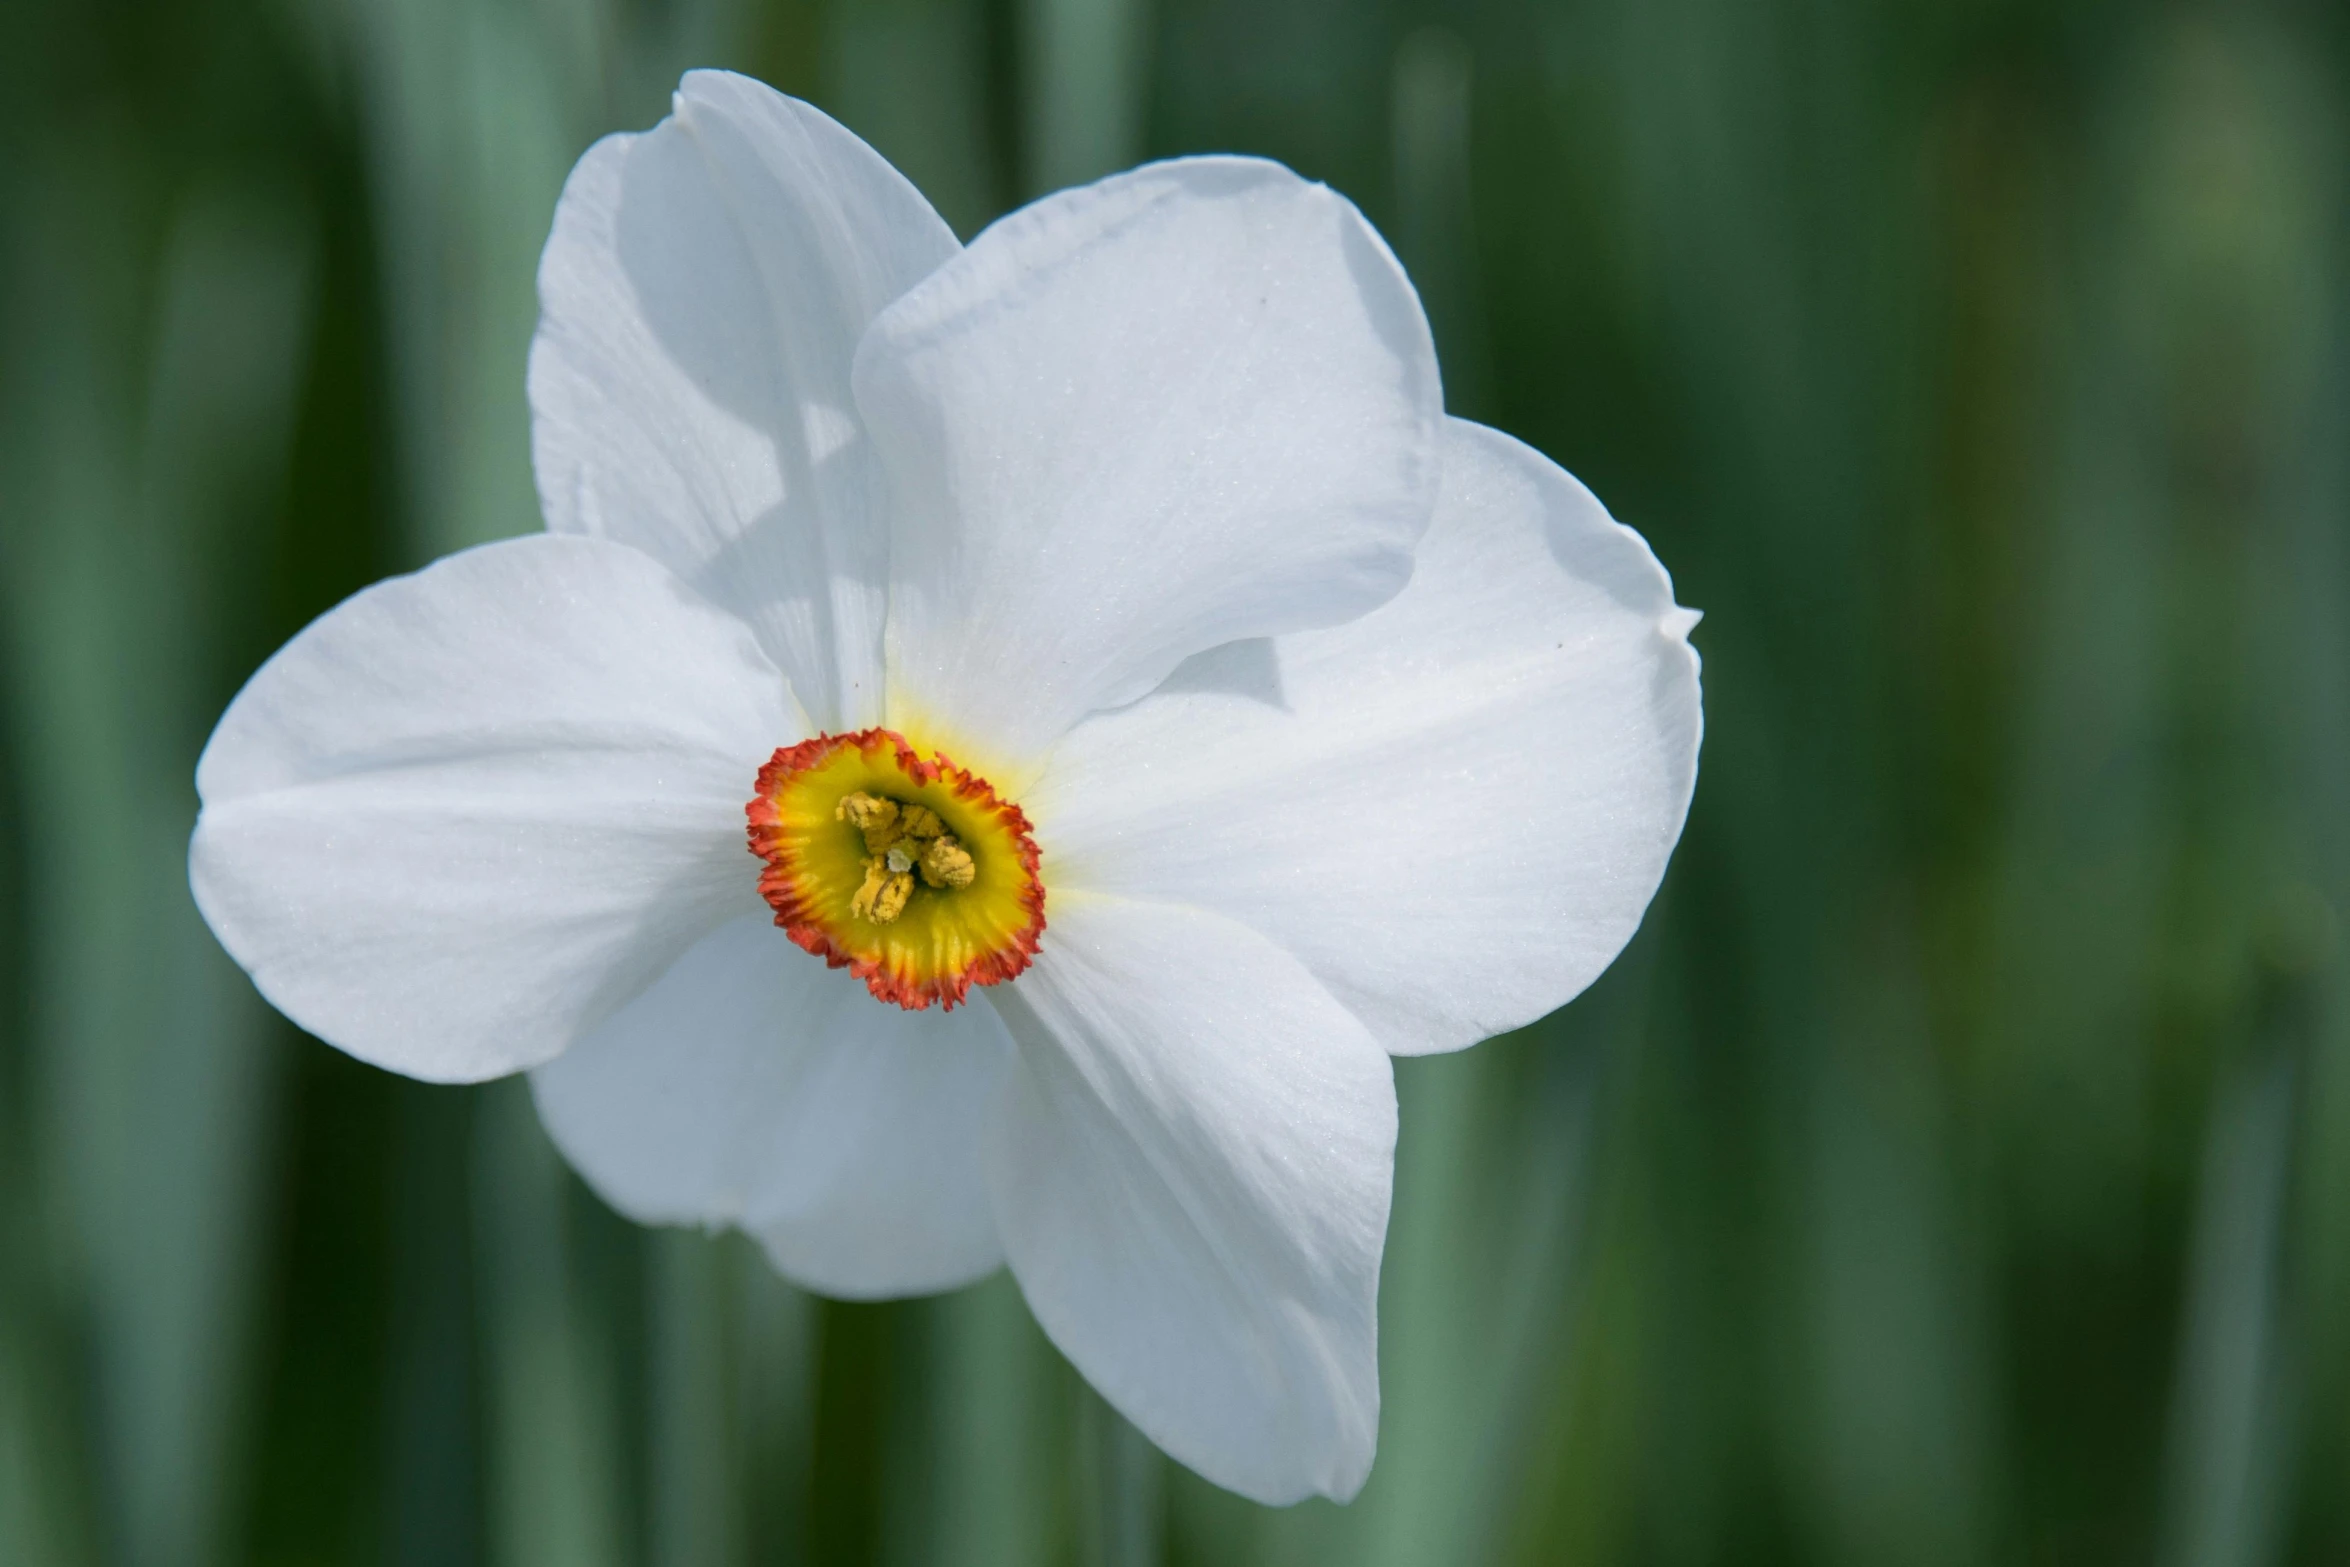
{"label": "leftmost white petal, rounded, with a crease along its middle", "polygon": [[764,907],[759,764],[806,719],[658,561],[517,538],[378,583],[237,693],[197,907],[277,1010],[435,1081],[533,1067]]}

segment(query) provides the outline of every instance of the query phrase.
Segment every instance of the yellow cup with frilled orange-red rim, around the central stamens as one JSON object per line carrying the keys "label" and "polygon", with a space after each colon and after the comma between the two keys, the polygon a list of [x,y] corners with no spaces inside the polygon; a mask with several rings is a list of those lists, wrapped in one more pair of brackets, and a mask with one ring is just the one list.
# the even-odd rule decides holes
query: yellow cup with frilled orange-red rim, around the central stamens
{"label": "yellow cup with frilled orange-red rim, around the central stamens", "polygon": [[[865,881],[865,836],[841,820],[848,794],[928,806],[971,853],[964,888],[921,886],[891,923],[851,907]],[[933,752],[924,759],[888,728],[818,735],[787,745],[759,768],[745,806],[750,850],[766,860],[759,893],[776,923],[832,968],[865,980],[879,1001],[952,1010],[973,984],[1001,984],[1036,956],[1043,935],[1043,879],[1036,839],[1020,806]]]}

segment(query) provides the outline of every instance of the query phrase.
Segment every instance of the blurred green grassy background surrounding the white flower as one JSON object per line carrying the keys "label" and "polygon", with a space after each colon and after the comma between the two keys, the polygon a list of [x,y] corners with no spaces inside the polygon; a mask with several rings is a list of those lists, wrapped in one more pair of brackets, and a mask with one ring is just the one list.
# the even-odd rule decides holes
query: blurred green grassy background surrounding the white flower
{"label": "blurred green grassy background surrounding the white flower", "polygon": [[[618,1222],[190,909],[244,674],[538,526],[555,193],[696,63],[966,235],[1328,179],[1708,611],[1631,951],[1398,1067],[1349,1508],[1166,1464],[1003,1278]],[[2350,1560],[2345,115],[2338,2],[0,9],[0,1562]]]}

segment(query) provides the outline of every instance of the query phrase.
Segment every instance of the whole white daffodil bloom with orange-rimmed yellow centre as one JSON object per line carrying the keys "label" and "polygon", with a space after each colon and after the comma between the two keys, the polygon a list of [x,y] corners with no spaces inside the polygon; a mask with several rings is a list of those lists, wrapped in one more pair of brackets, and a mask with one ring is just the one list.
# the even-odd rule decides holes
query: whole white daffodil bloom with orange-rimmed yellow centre
{"label": "whole white daffodil bloom with orange-rimmed yellow centre", "polygon": [[362,1060],[531,1069],[627,1215],[851,1297],[1008,1264],[1170,1454],[1351,1497],[1389,1055],[1629,940],[1694,616],[1443,416],[1386,247],[1278,164],[964,249],[832,120],[696,73],[580,160],[538,282],[548,533],[237,695],[190,855],[221,942]]}

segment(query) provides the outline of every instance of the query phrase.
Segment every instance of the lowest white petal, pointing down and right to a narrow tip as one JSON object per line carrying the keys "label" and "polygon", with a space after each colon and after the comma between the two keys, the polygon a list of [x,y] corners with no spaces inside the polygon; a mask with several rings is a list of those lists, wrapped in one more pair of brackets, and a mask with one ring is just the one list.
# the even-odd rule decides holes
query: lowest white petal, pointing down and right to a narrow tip
{"label": "lowest white petal, pointing down and right to a narrow tip", "polygon": [[1020,1043],[987,1172],[1046,1334],[1217,1485],[1351,1497],[1396,1165],[1377,1041],[1246,926],[1083,895],[987,998]]}

